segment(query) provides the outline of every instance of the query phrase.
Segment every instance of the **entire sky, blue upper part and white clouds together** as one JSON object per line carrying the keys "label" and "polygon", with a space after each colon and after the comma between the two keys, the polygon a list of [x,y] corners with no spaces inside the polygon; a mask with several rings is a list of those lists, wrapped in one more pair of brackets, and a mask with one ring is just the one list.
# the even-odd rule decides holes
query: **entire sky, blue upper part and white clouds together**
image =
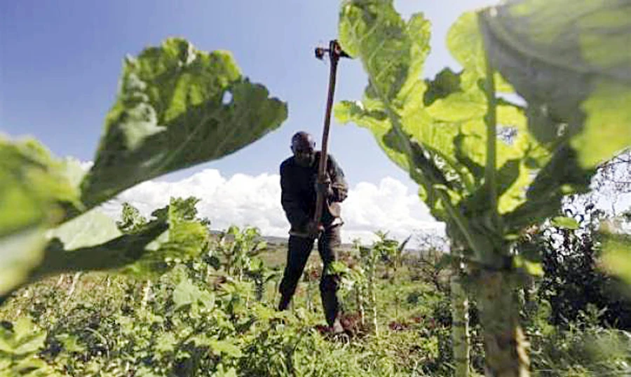
{"label": "entire sky, blue upper part and white clouds together", "polygon": [[[491,4],[395,1],[405,17],[423,12],[432,22],[426,76],[459,69],[445,47],[447,30],[464,11]],[[338,12],[333,0],[0,1],[0,133],[35,137],[55,156],[89,165],[125,55],[170,36],[199,50],[230,50],[245,76],[287,102],[287,121],[230,156],[140,184],[103,209],[116,216],[128,200],[147,214],[170,195],[195,195],[215,228],[253,225],[287,235],[278,167],[290,156],[294,132],[311,132],[320,144],[329,67],[313,48],[337,37]],[[359,100],[366,84],[360,62],[342,60],[336,100]],[[351,186],[342,214],[346,241],[370,240],[379,229],[402,238],[442,228],[367,130],[333,120],[329,146]]]}

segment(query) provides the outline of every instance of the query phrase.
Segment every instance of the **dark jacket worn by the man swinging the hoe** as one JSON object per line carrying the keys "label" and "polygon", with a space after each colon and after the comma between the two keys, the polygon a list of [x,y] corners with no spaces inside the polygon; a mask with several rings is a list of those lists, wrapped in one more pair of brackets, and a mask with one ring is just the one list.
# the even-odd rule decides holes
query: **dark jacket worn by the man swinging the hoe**
{"label": "dark jacket worn by the man swinging the hoe", "polygon": [[[315,214],[315,181],[318,179],[320,152],[315,152],[315,162],[310,167],[302,167],[294,157],[287,158],[280,164],[280,203],[287,215],[292,231],[305,231],[306,225]],[[321,218],[322,224],[330,226],[340,217],[339,203],[346,199],[348,184],[344,172],[337,165],[333,156],[327,157],[327,175],[331,181],[331,190]],[[336,221],[337,222],[337,221]]]}

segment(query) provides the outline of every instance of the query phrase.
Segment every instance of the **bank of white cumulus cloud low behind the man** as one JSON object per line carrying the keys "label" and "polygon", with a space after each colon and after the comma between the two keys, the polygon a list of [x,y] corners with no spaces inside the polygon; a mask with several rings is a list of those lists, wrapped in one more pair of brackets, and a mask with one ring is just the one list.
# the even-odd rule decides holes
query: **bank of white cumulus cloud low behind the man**
{"label": "bank of white cumulus cloud low behind the man", "polygon": [[[145,181],[124,191],[102,205],[102,210],[118,219],[123,202],[128,202],[148,216],[168,204],[171,197],[195,196],[197,209],[208,217],[212,228],[257,226],[264,235],[286,237],[289,223],[280,206],[280,176],[235,174],[226,178],[218,170],[207,169],[179,181]],[[423,230],[442,230],[421,204],[416,193],[402,182],[386,177],[378,185],[361,182],[348,193],[342,204],[344,242],[360,238],[368,243],[374,232],[388,231],[402,240]]]}

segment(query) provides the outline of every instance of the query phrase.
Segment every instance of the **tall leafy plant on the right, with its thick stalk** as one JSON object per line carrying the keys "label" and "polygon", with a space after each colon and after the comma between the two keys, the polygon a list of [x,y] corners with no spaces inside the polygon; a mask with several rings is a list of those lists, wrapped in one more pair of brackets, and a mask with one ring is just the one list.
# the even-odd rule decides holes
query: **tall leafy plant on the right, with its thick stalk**
{"label": "tall leafy plant on the right, with its thick stalk", "polygon": [[[625,1],[612,8],[631,10]],[[336,116],[373,132],[475,266],[491,376],[529,369],[513,302],[523,270],[511,261],[513,240],[556,214],[563,196],[587,191],[595,165],[629,144],[608,136],[631,135],[623,105],[631,63],[615,49],[624,32],[606,22],[612,8],[522,0],[466,13],[447,37],[463,71],[445,69],[430,81],[420,77],[430,36],[423,15],[406,22],[391,1],[341,6],[341,46],[360,58],[369,85],[361,102],[337,104]],[[574,30],[581,39],[556,38],[574,38]],[[498,73],[526,107],[496,97],[511,90]]]}

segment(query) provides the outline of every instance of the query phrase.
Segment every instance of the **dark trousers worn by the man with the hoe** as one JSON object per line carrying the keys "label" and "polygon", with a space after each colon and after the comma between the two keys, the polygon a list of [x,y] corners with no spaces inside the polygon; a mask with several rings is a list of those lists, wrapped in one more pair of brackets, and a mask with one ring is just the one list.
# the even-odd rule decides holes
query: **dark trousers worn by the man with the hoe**
{"label": "dark trousers worn by the man with the hoe", "polygon": [[[327,228],[318,238],[318,252],[323,261],[323,273],[320,277],[320,297],[325,311],[327,323],[332,326],[337,313],[339,311],[339,301],[337,300],[337,288],[339,285],[339,276],[325,273],[330,263],[335,261],[337,257],[337,247],[341,245],[339,235],[340,226]],[[313,249],[311,238],[302,238],[290,235],[289,247],[287,250],[287,265],[285,265],[285,273],[283,280],[280,281],[280,310],[285,310],[289,306],[290,301],[296,287],[302,276],[306,261]]]}

